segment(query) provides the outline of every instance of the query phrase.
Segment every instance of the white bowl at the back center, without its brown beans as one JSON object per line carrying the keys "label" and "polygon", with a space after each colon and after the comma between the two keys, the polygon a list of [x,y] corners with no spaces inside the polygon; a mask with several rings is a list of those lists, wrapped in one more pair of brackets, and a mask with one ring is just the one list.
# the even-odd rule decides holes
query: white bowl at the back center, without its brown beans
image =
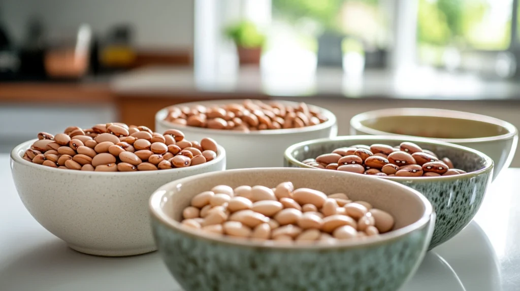
{"label": "white bowl at the back center, without its brown beans", "polygon": [[[176,106],[224,105],[241,103],[243,100],[201,101],[178,104]],[[282,104],[297,106],[296,102],[277,101]],[[165,121],[168,108],[161,109],[155,115],[155,131],[164,132],[174,128],[183,131],[192,140],[200,141],[204,137],[213,138],[227,152],[227,169],[283,167],[283,151],[290,145],[312,140],[314,138],[332,137],[337,135],[336,117],[329,110],[314,107],[328,118],[326,122],[304,128],[259,130],[240,132],[233,130],[216,130],[208,128],[183,126]]]}

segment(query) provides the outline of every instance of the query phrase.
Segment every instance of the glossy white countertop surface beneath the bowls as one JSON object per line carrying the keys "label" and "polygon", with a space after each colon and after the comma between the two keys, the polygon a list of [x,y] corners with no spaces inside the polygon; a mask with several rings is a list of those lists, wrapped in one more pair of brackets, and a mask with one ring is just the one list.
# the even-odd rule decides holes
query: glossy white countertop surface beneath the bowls
{"label": "glossy white countertop surface beneath the bowls", "polygon": [[[520,290],[519,177],[520,169],[504,170],[475,220],[428,253],[401,291]],[[0,155],[0,185],[0,290],[181,290],[157,252],[107,258],[70,250],[23,207],[7,155]]]}

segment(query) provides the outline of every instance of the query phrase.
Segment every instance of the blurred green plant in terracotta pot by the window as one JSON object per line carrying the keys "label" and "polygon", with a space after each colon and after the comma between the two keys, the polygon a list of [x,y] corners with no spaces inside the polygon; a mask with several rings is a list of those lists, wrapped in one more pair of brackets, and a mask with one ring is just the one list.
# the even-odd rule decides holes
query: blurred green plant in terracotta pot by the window
{"label": "blurred green plant in terracotta pot by the window", "polygon": [[226,35],[237,46],[238,59],[241,65],[260,63],[265,35],[258,31],[250,21],[241,21],[226,29]]}

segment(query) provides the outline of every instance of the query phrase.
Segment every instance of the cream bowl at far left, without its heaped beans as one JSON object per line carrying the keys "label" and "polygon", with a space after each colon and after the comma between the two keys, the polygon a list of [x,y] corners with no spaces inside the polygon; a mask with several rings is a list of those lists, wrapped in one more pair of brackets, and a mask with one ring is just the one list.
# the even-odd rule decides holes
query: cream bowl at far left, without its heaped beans
{"label": "cream bowl at far left, without its heaped beans", "polygon": [[29,213],[76,251],[100,256],[128,256],[157,250],[149,223],[150,194],[168,182],[221,171],[226,153],[186,168],[144,172],[62,170],[22,159],[35,142],[11,151],[11,172]]}

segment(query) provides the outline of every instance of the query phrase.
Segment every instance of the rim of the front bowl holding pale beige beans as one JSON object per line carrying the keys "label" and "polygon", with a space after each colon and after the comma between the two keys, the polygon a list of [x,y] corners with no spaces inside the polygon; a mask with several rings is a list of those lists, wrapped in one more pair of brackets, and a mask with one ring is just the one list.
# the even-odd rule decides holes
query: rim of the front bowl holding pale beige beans
{"label": "rim of the front bowl holding pale beige beans", "polygon": [[[157,190],[155,190],[149,199],[149,212],[151,214],[151,217],[165,227],[167,227],[170,230],[173,230],[175,232],[180,232],[183,235],[188,235],[189,237],[193,239],[198,240],[204,240],[210,243],[218,243],[218,244],[225,244],[225,245],[231,245],[233,247],[255,247],[255,248],[262,248],[262,249],[270,249],[270,250],[331,250],[331,249],[337,249],[337,248],[359,248],[359,247],[368,247],[368,246],[377,246],[381,244],[386,244],[395,240],[398,240],[405,235],[416,231],[418,229],[421,229],[423,227],[428,227],[428,223],[432,219],[435,219],[435,212],[433,210],[433,206],[428,201],[424,195],[422,195],[419,191],[414,190],[412,188],[409,188],[405,185],[383,180],[383,183],[388,184],[388,186],[391,187],[397,187],[401,188],[404,192],[408,192],[408,195],[413,195],[421,201],[421,203],[424,206],[424,212],[422,213],[421,218],[419,218],[417,221],[414,221],[412,224],[407,225],[405,227],[402,227],[397,230],[393,230],[387,233],[380,234],[375,237],[367,237],[363,240],[345,240],[339,243],[334,244],[279,244],[271,240],[267,241],[250,241],[250,240],[236,240],[232,239],[226,236],[218,236],[218,235],[212,235],[212,234],[206,234],[201,233],[199,230],[191,229],[187,227],[183,227],[180,223],[180,221],[177,221],[173,219],[172,217],[166,215],[162,211],[161,202],[164,201],[164,199],[167,199],[165,196],[168,195],[168,192],[171,189],[174,189],[178,187],[178,185],[181,185],[183,183],[186,183],[188,181],[191,181],[193,179],[204,179],[211,176],[217,176],[217,175],[233,175],[234,173],[238,172],[261,172],[261,171],[284,171],[284,172],[299,172],[299,173],[317,173],[316,171],[319,171],[318,169],[301,169],[301,168],[249,168],[249,169],[236,169],[236,170],[226,170],[226,171],[219,171],[219,172],[211,172],[211,173],[204,173],[204,174],[198,174],[186,178],[181,178],[176,181],[167,183]],[[367,179],[367,181],[371,181],[371,179],[378,179],[377,177],[372,176],[361,176],[356,175],[354,173],[348,173],[348,172],[342,172],[339,173],[340,176],[350,176],[350,178],[353,179]],[[371,184],[370,182],[367,182],[367,184]],[[431,237],[431,235],[430,235]],[[425,243],[425,247],[427,247],[429,243]]]}

